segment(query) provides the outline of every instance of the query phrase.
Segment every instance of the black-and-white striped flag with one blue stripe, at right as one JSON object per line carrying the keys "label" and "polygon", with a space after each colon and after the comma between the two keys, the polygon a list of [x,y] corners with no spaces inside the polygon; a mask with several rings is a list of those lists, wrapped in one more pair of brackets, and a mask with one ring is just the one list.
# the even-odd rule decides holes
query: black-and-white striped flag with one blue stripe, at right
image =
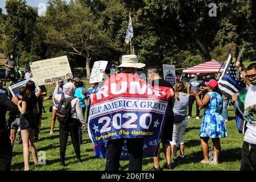
{"label": "black-and-white striped flag with one blue stripe, at right", "polygon": [[237,68],[234,65],[232,56],[229,55],[228,62],[225,65],[224,72],[222,73],[220,80],[218,80],[218,87],[222,92],[232,97],[234,93],[239,92],[242,89],[240,85],[240,78],[236,78]]}

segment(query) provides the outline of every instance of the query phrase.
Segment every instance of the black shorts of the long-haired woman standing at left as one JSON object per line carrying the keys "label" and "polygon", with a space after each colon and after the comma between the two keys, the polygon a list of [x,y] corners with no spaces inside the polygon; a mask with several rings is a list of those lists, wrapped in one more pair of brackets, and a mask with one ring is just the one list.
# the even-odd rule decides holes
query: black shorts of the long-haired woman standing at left
{"label": "black shorts of the long-haired woman standing at left", "polygon": [[36,115],[32,113],[20,114],[20,130],[36,129]]}

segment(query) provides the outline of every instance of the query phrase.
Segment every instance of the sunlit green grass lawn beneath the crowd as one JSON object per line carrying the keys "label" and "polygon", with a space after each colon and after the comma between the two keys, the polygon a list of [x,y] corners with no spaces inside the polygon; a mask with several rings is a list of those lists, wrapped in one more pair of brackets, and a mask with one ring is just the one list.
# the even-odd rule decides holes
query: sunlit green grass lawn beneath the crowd
{"label": "sunlit green grass lawn beneath the crowd", "polygon": [[[86,82],[86,88],[90,85]],[[48,86],[48,93],[52,91],[53,85]],[[95,158],[93,152],[93,145],[88,137],[88,133],[83,131],[81,145],[81,159],[82,163],[76,163],[75,152],[73,150],[71,137],[68,140],[68,146],[66,151],[65,162],[67,167],[60,167],[60,157],[59,157],[59,123],[56,121],[55,133],[49,135],[49,130],[51,127],[52,113],[49,113],[49,106],[52,104],[51,100],[44,101],[44,107],[46,113],[42,115],[42,126],[40,132],[40,141],[35,143],[37,151],[46,152],[46,165],[35,167],[33,164],[32,156],[30,155],[30,168],[35,171],[56,171],[56,170],[104,170],[105,169],[105,159]],[[195,105],[195,104],[194,104]],[[201,118],[199,120],[195,119],[195,108],[193,109],[192,118],[189,119],[189,124],[185,130],[184,140],[185,140],[185,157],[186,159],[182,162],[174,164],[174,170],[176,171],[198,171],[198,170],[239,170],[240,160],[241,160],[241,147],[243,142],[243,135],[238,133],[236,127],[236,120],[234,119],[233,107],[229,109],[229,122],[226,122],[226,127],[228,130],[228,138],[221,139],[221,154],[220,154],[220,164],[209,165],[200,164],[200,160],[203,159],[203,152],[201,151],[199,131],[201,127]],[[203,114],[201,110],[200,114]],[[213,150],[212,142],[209,142],[210,151]],[[179,154],[179,152],[178,152]],[[148,170],[152,167],[152,158],[143,159],[143,170]],[[166,160],[164,159],[164,154],[160,155],[160,166],[163,168],[166,165]],[[11,163],[12,170],[23,170],[23,152],[22,144],[18,144],[15,141],[13,148],[13,160]],[[128,169],[128,162],[121,161],[121,170]],[[165,168],[163,168],[166,170]]]}

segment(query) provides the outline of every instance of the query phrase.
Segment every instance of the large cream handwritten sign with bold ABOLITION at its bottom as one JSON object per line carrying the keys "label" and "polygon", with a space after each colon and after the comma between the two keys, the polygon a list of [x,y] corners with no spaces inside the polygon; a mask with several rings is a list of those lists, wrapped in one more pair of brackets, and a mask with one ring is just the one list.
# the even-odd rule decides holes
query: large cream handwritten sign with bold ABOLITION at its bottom
{"label": "large cream handwritten sign with bold ABOLITION at its bottom", "polygon": [[30,68],[36,85],[45,85],[73,77],[67,56],[35,61],[30,63]]}

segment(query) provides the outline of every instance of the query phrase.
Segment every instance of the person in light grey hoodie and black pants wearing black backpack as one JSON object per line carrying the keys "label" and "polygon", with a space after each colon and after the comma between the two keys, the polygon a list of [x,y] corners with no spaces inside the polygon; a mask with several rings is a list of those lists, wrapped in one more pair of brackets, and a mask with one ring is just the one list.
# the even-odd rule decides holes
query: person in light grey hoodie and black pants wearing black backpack
{"label": "person in light grey hoodie and black pants wearing black backpack", "polygon": [[58,94],[59,82],[56,82],[56,87],[53,92],[54,98],[59,101],[57,108],[57,119],[59,120],[60,131],[60,166],[65,165],[65,151],[68,142],[68,134],[70,132],[74,150],[76,152],[77,162],[82,162],[80,158],[79,146],[79,122],[84,122],[84,115],[80,106],[79,98],[74,96],[75,85],[68,82],[63,86],[63,94]]}

